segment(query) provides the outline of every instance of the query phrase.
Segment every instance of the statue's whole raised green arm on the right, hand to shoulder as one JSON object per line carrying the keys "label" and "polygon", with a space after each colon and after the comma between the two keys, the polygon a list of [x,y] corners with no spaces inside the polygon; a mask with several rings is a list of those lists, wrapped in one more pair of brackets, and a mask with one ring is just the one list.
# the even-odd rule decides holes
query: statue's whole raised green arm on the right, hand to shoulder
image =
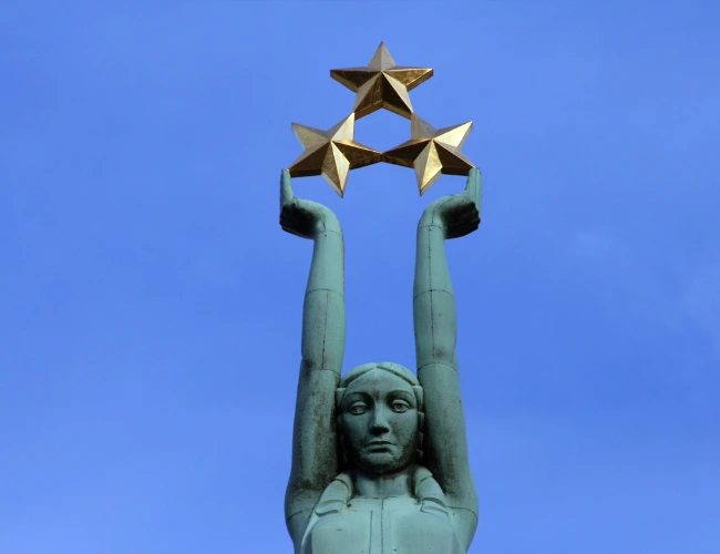
{"label": "statue's whole raised green arm on the right, hand to shoulder", "polygon": [[480,198],[480,172],[471,170],[463,193],[428,206],[418,224],[413,290],[418,379],[425,397],[426,464],[445,493],[466,546],[477,522],[477,494],[467,460],[455,356],[455,298],[444,242],[477,228]]}

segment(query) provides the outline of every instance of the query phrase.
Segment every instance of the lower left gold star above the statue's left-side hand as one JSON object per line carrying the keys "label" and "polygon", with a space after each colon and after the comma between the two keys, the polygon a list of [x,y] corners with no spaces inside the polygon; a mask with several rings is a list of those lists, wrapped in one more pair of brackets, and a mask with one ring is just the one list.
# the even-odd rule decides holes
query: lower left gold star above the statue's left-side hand
{"label": "lower left gold star above the statue's left-side hand", "polygon": [[305,146],[305,152],[288,168],[292,177],[322,175],[332,189],[344,195],[348,172],[356,167],[377,164],[382,154],[352,140],[354,114],[328,131],[292,123],[292,131]]}

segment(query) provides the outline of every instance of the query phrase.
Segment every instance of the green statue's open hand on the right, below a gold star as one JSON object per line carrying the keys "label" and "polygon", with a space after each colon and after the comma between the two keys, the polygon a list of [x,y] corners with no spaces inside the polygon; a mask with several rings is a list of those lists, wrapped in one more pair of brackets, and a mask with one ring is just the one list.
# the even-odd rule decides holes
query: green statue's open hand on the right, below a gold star
{"label": "green statue's open hand on the right, below a gold star", "polygon": [[473,167],[467,175],[467,185],[460,194],[438,198],[430,204],[420,219],[420,226],[440,225],[445,238],[457,238],[471,234],[480,225],[482,183],[480,170]]}

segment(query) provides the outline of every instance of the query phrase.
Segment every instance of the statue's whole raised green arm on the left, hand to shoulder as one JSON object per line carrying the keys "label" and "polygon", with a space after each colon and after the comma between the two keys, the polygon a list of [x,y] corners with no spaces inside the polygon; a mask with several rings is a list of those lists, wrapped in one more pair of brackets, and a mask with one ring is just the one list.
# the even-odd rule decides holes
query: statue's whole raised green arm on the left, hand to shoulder
{"label": "statue's whole raised green arm on the left, hand to shoulder", "polygon": [[344,254],[336,215],[295,197],[287,171],[281,178],[280,225],[315,242],[302,308],[292,469],[285,497],[286,523],[297,546],[317,500],[338,474],[335,390],[344,353]]}

